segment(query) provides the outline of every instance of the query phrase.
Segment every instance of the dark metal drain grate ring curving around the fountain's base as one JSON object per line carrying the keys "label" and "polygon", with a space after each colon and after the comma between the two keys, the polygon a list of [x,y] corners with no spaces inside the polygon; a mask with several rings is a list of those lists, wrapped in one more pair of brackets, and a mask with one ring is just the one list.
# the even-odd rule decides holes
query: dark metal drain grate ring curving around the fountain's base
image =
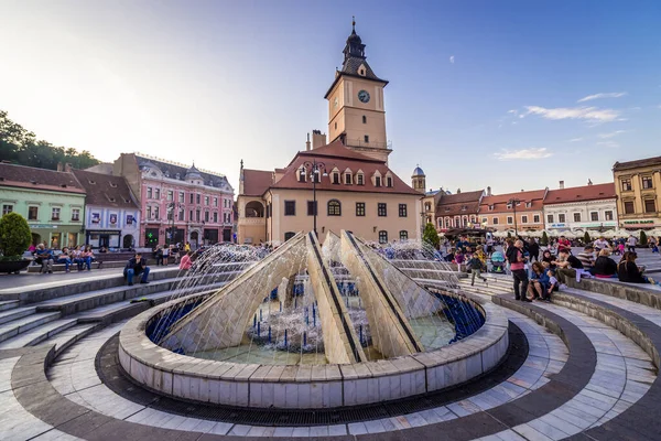
{"label": "dark metal drain grate ring curving around the fountain's base", "polygon": [[426,410],[468,398],[490,389],[509,378],[528,357],[528,340],[521,330],[509,322],[509,347],[502,363],[491,372],[452,389],[424,394],[394,401],[377,402],[339,409],[285,410],[246,409],[205,405],[158,395],[130,379],[119,365],[119,336],[110,338],[97,353],[95,365],[101,381],[121,397],[164,412],[235,424],[256,426],[330,426],[377,420]]}

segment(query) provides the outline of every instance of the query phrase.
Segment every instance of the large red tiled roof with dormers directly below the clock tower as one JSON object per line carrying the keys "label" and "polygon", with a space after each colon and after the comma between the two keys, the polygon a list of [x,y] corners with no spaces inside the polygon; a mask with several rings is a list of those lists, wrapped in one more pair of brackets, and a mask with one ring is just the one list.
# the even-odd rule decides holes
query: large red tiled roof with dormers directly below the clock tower
{"label": "large red tiled roof with dormers directly below the clock tower", "polygon": [[[325,164],[325,169],[328,172],[328,176],[322,178],[322,182],[316,184],[317,190],[327,191],[347,191],[347,192],[361,192],[361,193],[391,193],[391,194],[412,194],[422,197],[422,193],[411,189],[405,184],[394,172],[392,172],[383,161],[366,157],[357,153],[350,149],[344,147],[339,141],[332,142],[327,146],[319,147],[315,150],[306,150],[296,153],[294,159],[285,168],[284,175],[275,184],[271,185],[273,189],[305,189],[310,190],[311,182],[299,182],[299,169],[305,161],[312,161],[316,159]],[[340,182],[344,182],[345,170],[351,170],[355,175],[358,170],[361,170],[365,174],[364,185],[347,185],[344,183],[333,184],[330,172],[337,168],[340,173]],[[375,186],[372,184],[372,175],[379,171],[381,174],[382,186]],[[392,176],[392,186],[386,186],[386,174],[390,172]]]}

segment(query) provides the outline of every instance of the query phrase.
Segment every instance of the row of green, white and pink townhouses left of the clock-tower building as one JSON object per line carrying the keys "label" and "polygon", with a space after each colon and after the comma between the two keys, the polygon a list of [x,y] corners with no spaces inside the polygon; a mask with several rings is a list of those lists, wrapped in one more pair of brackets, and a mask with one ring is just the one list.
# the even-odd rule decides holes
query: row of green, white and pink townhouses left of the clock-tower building
{"label": "row of green, white and pink townhouses left of the clock-tower building", "polygon": [[88,170],[0,163],[0,207],[25,217],[33,244],[53,248],[197,247],[235,234],[224,175],[137,153]]}

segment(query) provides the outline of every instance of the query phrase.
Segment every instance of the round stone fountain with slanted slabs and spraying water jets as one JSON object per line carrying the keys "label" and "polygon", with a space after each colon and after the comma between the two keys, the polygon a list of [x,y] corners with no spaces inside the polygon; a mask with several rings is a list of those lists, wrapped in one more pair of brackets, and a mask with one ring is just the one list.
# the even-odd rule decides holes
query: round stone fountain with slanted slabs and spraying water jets
{"label": "round stone fountain with slanted slabs and spraying water jets", "polygon": [[[231,265],[218,262],[227,252],[205,252],[185,289],[123,327],[119,359],[136,381],[218,405],[329,408],[456,386],[506,354],[506,318],[464,295],[420,244],[386,250],[343,230],[322,247],[300,233],[242,259],[220,289],[194,292],[195,278]],[[443,269],[420,282],[393,265],[407,258]]]}

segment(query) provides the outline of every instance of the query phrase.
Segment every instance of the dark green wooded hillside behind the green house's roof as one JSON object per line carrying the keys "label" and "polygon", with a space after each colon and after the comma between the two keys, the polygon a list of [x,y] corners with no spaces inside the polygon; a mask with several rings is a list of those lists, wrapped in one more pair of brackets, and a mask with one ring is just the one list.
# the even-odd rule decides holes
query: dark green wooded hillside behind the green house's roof
{"label": "dark green wooded hillside behind the green house's roof", "polygon": [[69,163],[74,169],[87,169],[99,161],[87,150],[55,147],[37,140],[36,136],[12,121],[0,110],[0,158],[14,164],[57,170],[57,163]]}

